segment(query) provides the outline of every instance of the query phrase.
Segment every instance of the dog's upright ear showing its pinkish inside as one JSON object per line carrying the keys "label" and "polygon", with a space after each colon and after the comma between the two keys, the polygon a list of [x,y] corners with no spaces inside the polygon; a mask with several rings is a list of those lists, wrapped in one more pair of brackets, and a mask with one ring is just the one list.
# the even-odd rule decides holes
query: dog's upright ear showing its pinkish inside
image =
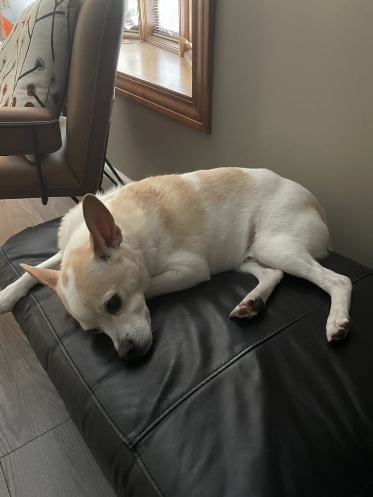
{"label": "dog's upright ear showing its pinkish inside", "polygon": [[123,237],[115,224],[110,211],[92,193],[83,199],[83,216],[91,233],[91,245],[94,253],[101,257],[107,247],[118,248]]}

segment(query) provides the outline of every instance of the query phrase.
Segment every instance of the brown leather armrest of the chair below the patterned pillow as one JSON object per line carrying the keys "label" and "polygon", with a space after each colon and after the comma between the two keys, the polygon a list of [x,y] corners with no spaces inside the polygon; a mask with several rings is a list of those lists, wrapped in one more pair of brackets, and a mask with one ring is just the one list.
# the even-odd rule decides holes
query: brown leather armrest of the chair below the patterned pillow
{"label": "brown leather armrest of the chair below the patterned pillow", "polygon": [[45,108],[1,107],[0,134],[0,156],[49,154],[62,145],[59,120]]}

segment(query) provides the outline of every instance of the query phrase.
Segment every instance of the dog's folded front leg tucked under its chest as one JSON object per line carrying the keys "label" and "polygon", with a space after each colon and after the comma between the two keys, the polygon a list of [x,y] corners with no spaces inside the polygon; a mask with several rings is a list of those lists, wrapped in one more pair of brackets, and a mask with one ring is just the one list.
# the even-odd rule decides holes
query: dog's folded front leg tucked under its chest
{"label": "dog's folded front leg tucked under its chest", "polygon": [[188,266],[175,267],[153,276],[145,297],[185,290],[210,278],[210,270],[205,260],[198,259],[193,262],[189,260]]}

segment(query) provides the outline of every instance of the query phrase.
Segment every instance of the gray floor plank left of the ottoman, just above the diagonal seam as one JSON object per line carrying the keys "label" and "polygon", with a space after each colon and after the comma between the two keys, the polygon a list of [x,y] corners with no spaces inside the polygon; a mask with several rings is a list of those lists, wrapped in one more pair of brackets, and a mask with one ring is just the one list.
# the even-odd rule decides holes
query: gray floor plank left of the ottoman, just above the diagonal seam
{"label": "gray floor plank left of the ottoman, just above the diagonal seam", "polygon": [[0,457],[68,418],[13,316],[0,316]]}

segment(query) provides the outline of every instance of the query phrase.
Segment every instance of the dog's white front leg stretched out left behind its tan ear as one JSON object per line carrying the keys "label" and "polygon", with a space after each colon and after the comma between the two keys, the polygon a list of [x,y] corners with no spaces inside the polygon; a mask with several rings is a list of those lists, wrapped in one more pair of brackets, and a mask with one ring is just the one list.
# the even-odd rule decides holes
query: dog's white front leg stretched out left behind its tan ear
{"label": "dog's white front leg stretched out left behind its tan ear", "polygon": [[[60,264],[61,259],[62,252],[57,252],[56,255],[53,255],[36,267],[53,269]],[[17,281],[14,281],[14,283],[1,290],[0,314],[10,312],[18,300],[27,295],[27,292],[37,283],[38,281],[35,278],[25,272]]]}

